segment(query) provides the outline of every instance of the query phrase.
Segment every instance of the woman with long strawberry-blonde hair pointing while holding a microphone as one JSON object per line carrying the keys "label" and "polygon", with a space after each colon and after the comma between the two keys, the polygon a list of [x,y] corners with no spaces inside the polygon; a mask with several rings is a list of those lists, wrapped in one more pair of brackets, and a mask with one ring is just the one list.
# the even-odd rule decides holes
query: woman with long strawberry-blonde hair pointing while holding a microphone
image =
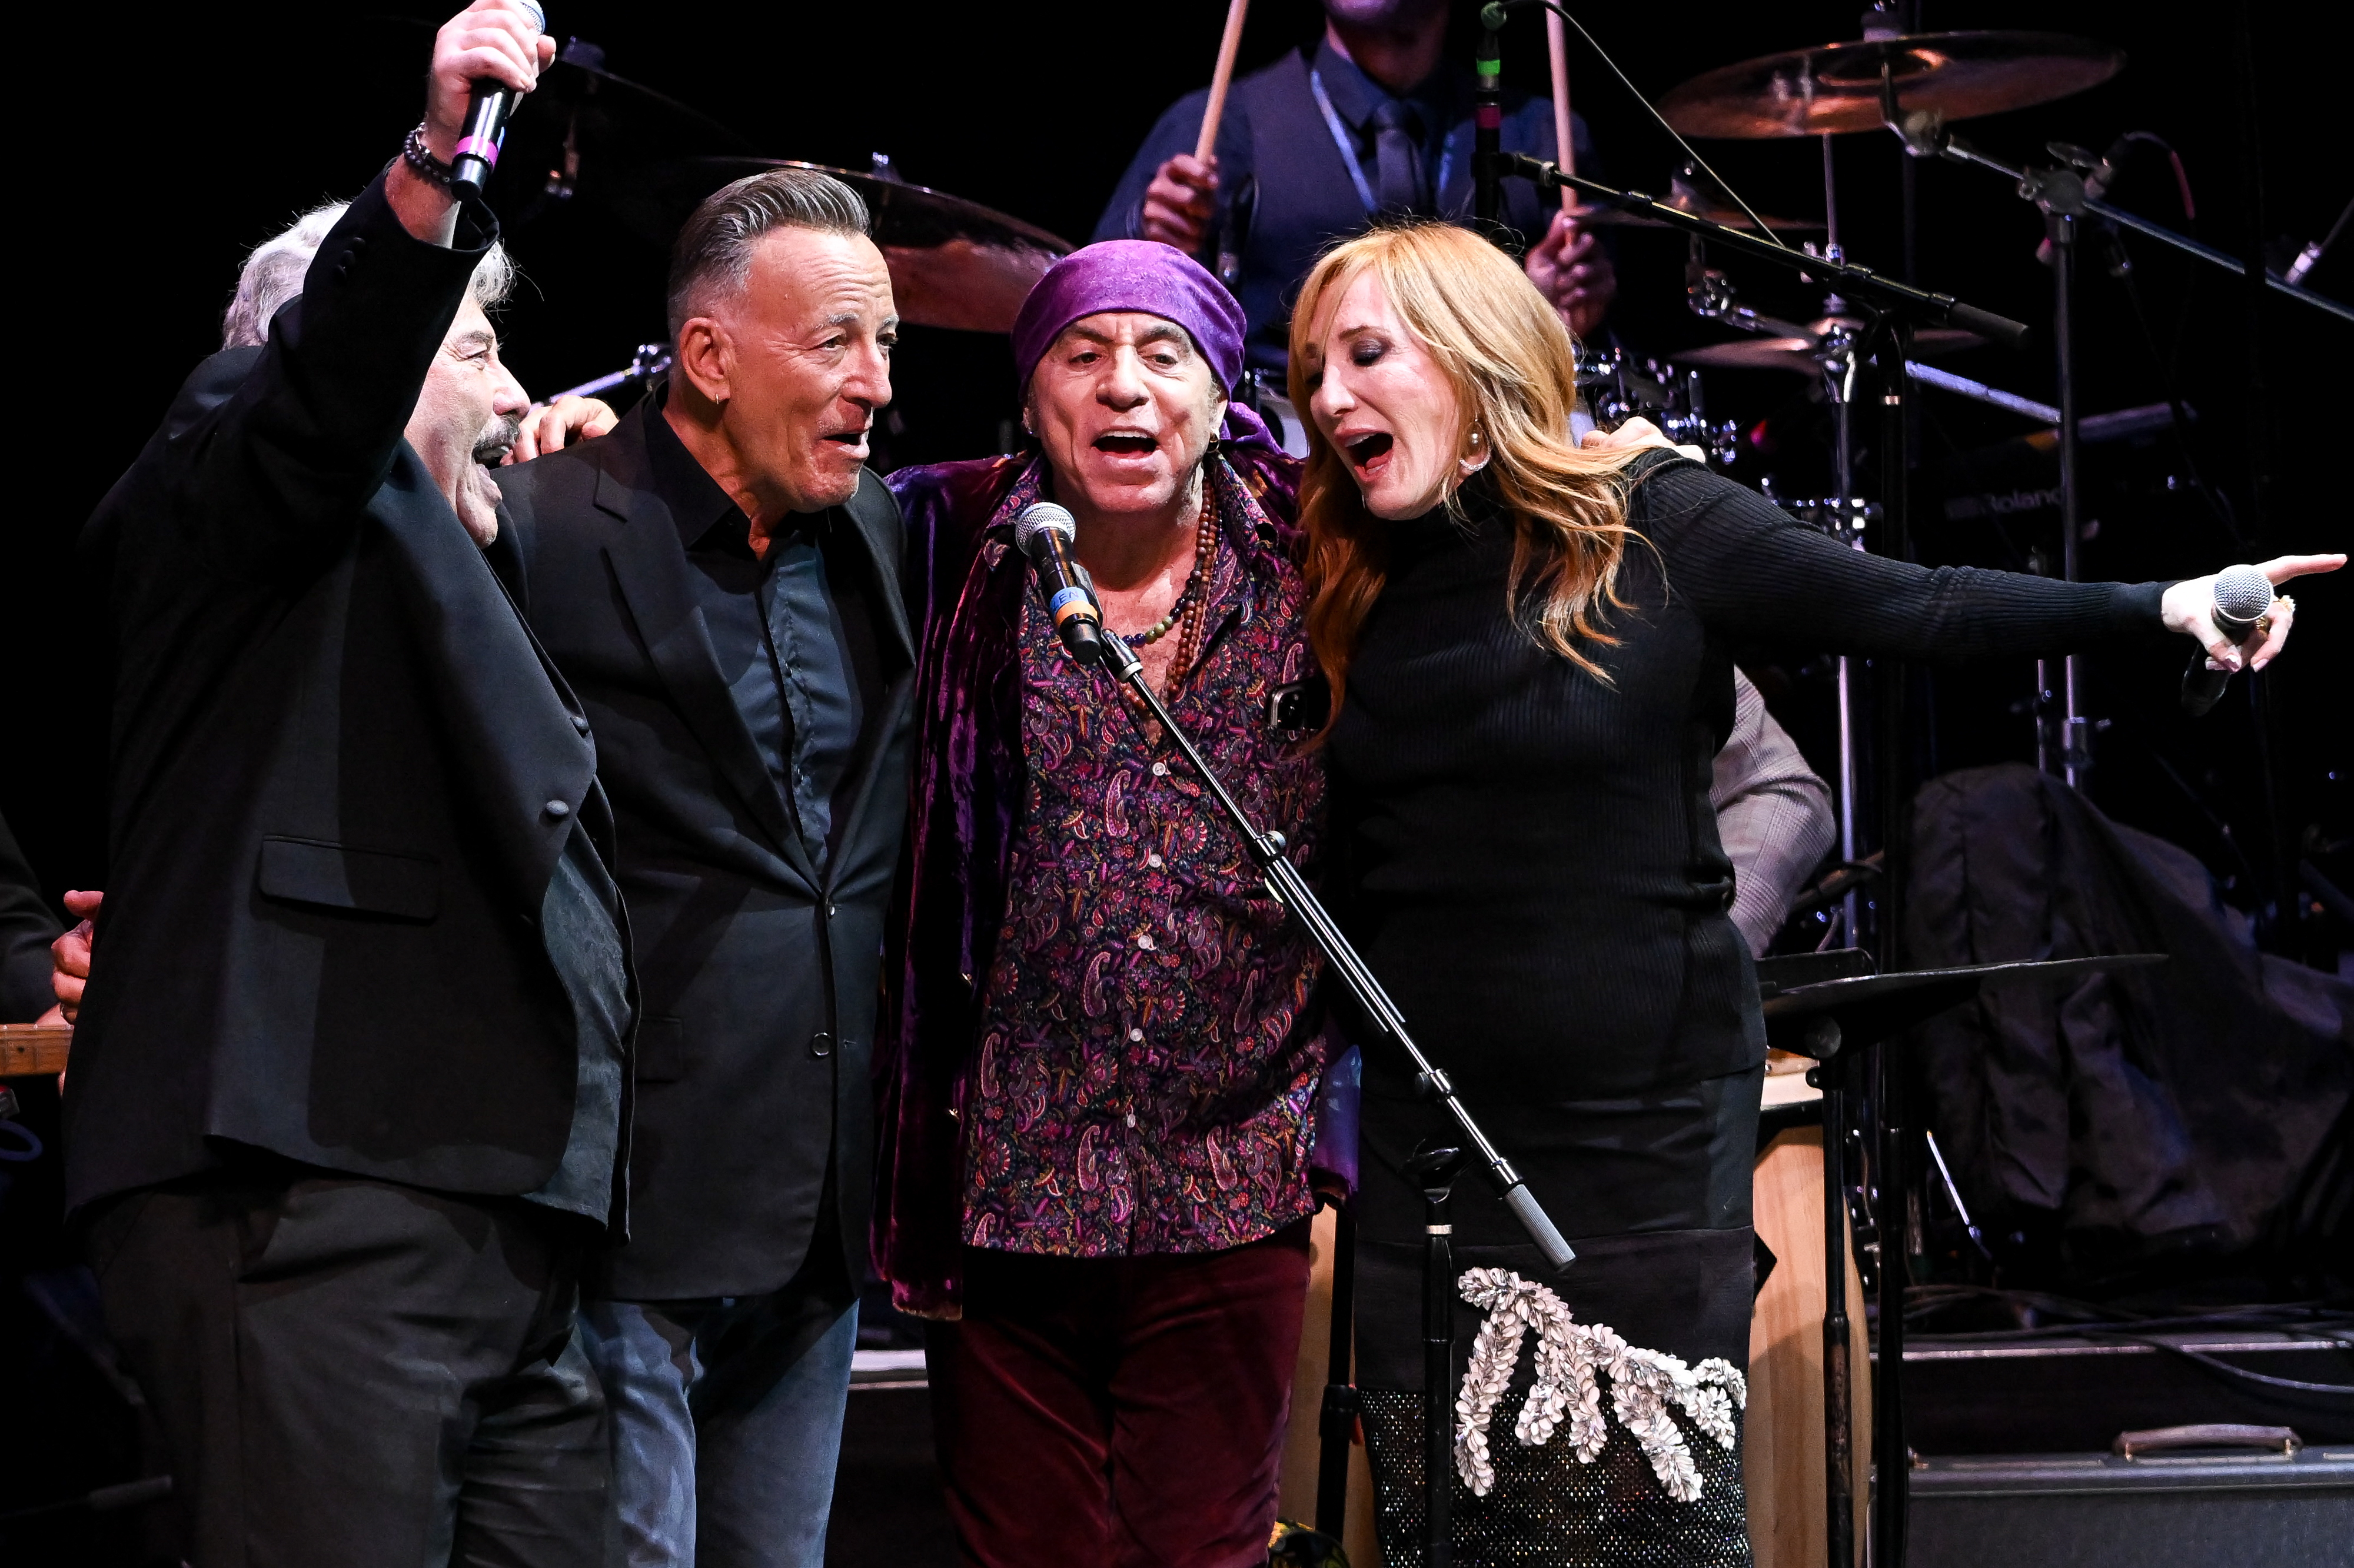
{"label": "woman with long strawberry-blonde hair pointing while holding a microphone", "polygon": [[[1838,652],[1966,659],[2175,629],[2236,664],[2213,579],[1928,572],[1794,525],[1648,426],[1570,445],[1561,318],[1448,226],[1332,250],[1292,315],[1290,377],[1314,414],[1299,513],[1346,918],[1577,1245],[1551,1278],[1485,1187],[1457,1189],[1455,1255],[1483,1271],[1462,1285],[1488,1314],[1469,1344],[1464,1311],[1459,1347],[1459,1552],[1747,1563],[1766,1038],[1709,812],[1728,643],[1801,629]],[[2288,619],[2276,600],[2255,666]],[[1358,1382],[1391,1561],[1415,1561],[1422,1511],[1422,1208],[1403,1163],[1448,1130],[1408,1064],[1368,1050]]]}

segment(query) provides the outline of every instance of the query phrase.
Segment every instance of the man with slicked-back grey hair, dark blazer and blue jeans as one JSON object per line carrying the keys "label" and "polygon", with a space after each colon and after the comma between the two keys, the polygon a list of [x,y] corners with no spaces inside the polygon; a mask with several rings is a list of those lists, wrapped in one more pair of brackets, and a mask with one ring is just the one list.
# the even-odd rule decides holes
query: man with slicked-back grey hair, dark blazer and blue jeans
{"label": "man with slicked-back grey hair, dark blazer and blue jeans", "polygon": [[897,313],[864,202],[805,170],[701,205],[669,313],[666,386],[499,471],[525,612],[596,725],[645,996],[631,1241],[584,1323],[617,1556],[814,1568],[906,812],[902,527],[864,471]]}

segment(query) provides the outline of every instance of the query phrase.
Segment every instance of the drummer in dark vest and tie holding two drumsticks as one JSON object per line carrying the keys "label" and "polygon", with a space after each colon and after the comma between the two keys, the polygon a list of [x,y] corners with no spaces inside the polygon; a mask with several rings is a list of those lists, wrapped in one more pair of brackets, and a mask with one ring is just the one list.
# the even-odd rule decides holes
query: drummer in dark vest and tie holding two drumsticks
{"label": "drummer in dark vest and tie holding two drumsticks", "polygon": [[[1215,257],[1250,323],[1248,367],[1281,386],[1290,299],[1318,252],[1387,214],[1471,214],[1471,71],[1441,59],[1445,33],[1445,0],[1325,0],[1314,49],[1233,82],[1208,165],[1193,158],[1208,89],[1161,115],[1095,238]],[[1584,120],[1570,134],[1594,167]],[[1551,99],[1504,92],[1504,151],[1556,155]],[[1575,337],[1594,334],[1617,292],[1596,235],[1528,181],[1504,181],[1504,221],[1544,235],[1528,275]]]}

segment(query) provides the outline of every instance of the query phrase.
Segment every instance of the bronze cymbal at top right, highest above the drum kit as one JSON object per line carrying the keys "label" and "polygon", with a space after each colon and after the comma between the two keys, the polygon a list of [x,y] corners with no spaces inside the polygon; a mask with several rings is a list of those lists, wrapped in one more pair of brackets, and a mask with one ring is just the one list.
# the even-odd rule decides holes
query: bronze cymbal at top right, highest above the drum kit
{"label": "bronze cymbal at top right, highest above the drum kit", "polygon": [[1660,113],[1685,137],[1822,137],[1881,127],[1881,73],[1897,108],[1973,120],[2097,87],[2126,52],[2062,33],[1911,33],[1723,66],[1674,87]]}

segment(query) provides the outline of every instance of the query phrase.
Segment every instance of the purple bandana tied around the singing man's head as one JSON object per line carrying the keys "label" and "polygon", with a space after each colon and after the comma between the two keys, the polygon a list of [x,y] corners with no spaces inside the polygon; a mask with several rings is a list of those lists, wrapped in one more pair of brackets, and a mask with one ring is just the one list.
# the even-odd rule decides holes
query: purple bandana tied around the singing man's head
{"label": "purple bandana tied around the singing man's head", "polygon": [[[1219,386],[1231,391],[1243,381],[1243,306],[1201,261],[1158,240],[1102,240],[1050,266],[1015,318],[1017,381],[1026,388],[1062,330],[1099,311],[1172,320],[1193,337]],[[1276,450],[1266,426],[1241,403],[1226,405],[1224,436]]]}

